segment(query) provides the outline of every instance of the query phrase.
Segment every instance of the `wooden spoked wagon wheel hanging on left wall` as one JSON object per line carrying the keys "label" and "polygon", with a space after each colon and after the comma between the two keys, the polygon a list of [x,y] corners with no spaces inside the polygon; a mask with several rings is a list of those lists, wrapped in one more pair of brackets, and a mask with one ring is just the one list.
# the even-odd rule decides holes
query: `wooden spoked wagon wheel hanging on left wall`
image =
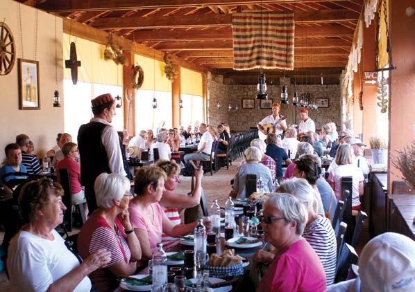
{"label": "wooden spoked wagon wheel hanging on left wall", "polygon": [[15,38],[4,22],[0,22],[0,75],[12,71],[16,60]]}

